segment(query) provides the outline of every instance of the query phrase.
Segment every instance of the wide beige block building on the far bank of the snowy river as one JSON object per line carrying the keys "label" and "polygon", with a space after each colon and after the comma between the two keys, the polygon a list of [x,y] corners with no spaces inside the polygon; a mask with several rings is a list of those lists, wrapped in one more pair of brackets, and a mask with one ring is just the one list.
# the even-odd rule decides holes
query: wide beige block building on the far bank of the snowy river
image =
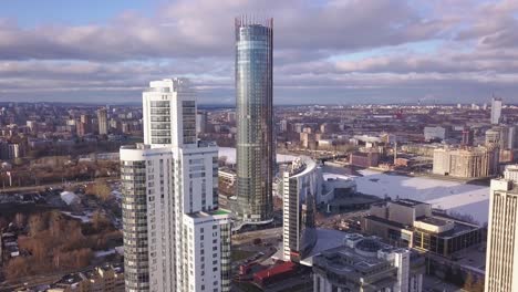
{"label": "wide beige block building on the far bank of the snowy river", "polygon": [[433,174],[459,178],[489,177],[498,174],[498,146],[438,148],[434,150]]}

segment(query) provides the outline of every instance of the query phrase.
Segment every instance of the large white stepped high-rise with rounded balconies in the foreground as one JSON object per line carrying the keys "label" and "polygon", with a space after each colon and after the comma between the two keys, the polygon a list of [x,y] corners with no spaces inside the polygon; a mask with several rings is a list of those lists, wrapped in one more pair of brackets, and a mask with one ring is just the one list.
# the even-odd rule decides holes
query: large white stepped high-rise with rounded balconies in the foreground
{"label": "large white stepped high-rise with rounded balconies in the foreground", "polygon": [[121,149],[126,291],[229,291],[218,148],[197,140],[194,92],[151,82],[143,104],[145,144]]}

